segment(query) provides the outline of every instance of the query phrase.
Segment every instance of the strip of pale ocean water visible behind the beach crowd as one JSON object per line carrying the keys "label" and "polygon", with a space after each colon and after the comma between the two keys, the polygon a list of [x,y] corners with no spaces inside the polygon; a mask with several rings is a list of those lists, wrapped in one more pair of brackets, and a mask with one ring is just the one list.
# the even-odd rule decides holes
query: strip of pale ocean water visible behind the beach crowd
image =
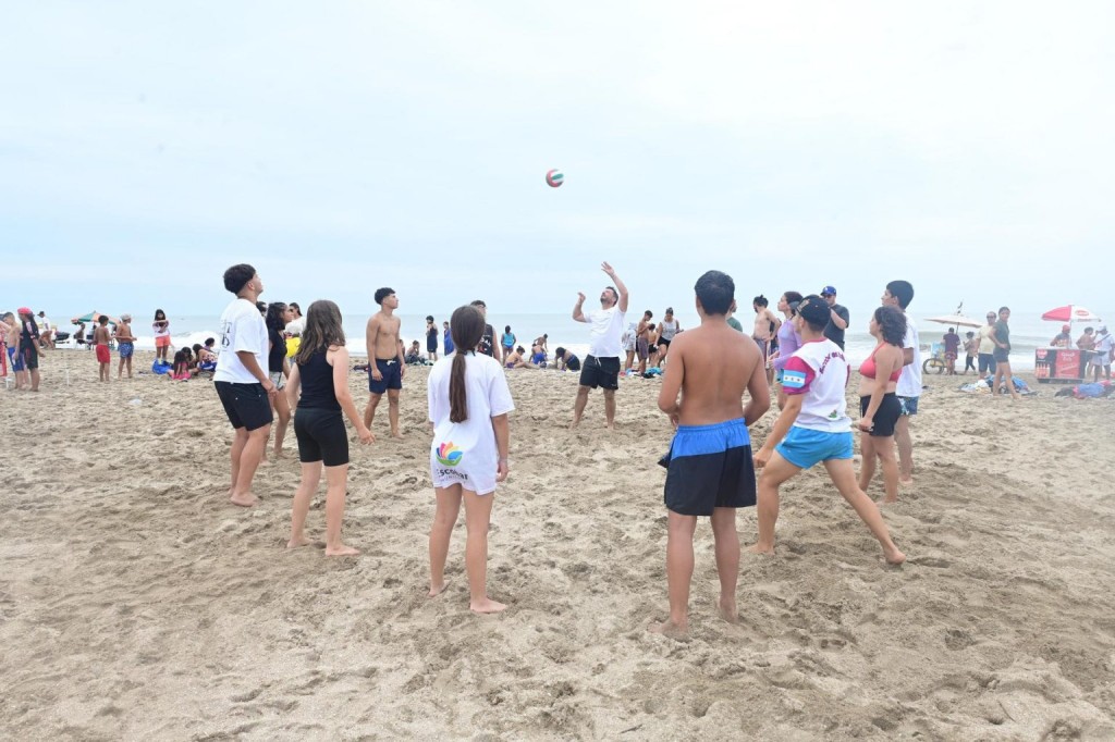
{"label": "strip of pale ocean water visible behind the beach crowd", "polygon": [[[859,363],[865,359],[875,346],[874,339],[866,332],[870,311],[871,310],[863,310],[862,312],[856,310],[852,311],[852,325],[849,328],[845,335],[845,352],[852,363]],[[948,331],[948,326],[929,322],[925,318],[949,313],[949,311],[941,311],[925,313],[914,312],[911,314],[918,323],[923,353],[928,353],[930,344],[933,342],[940,342],[944,333]],[[403,321],[401,335],[404,342],[407,346],[409,346],[410,341],[417,340],[419,346],[425,353],[426,315],[398,314],[398,316]],[[638,321],[640,316],[641,315],[636,311],[628,312],[630,321]],[[168,319],[171,321],[171,332],[176,346],[203,342],[205,336],[219,336],[217,331],[220,330],[221,322],[220,315],[217,314],[171,315]],[[440,328],[442,322],[447,319],[447,316],[436,318],[438,328]],[[659,318],[656,318],[656,320],[657,319]],[[688,314],[679,313],[677,314],[677,319],[681,323],[682,329],[696,326],[700,322],[696,312]],[[752,315],[749,312],[738,314],[737,319],[744,324],[745,329],[749,329],[752,322]],[[973,319],[979,318],[976,316]],[[349,352],[352,355],[367,355],[367,348],[365,344],[365,326],[367,321],[367,314],[349,315],[345,321],[345,333],[348,336]],[[554,349],[559,345],[570,349],[581,358],[584,358],[588,352],[588,326],[583,323],[575,322],[571,313],[492,313],[488,316],[488,322],[491,322],[495,328],[497,338],[502,335],[506,325],[511,325],[511,330],[515,334],[518,343],[527,349],[530,349],[530,344],[535,338],[546,334],[546,343],[551,353],[553,353]],[[1036,348],[1047,346],[1053,336],[1060,330],[1060,323],[1043,321],[1041,315],[1036,312],[1014,313],[1010,319],[1010,326],[1011,345],[1014,346],[1011,361],[1014,368],[1018,370],[1032,370],[1034,350]],[[60,329],[72,330],[72,328]],[[1073,330],[1074,336],[1078,335],[1083,329],[1084,325],[1077,323],[1077,326]],[[152,350],[155,346],[154,338],[152,334],[145,333],[145,330],[147,330],[147,328],[143,323],[133,323],[133,332],[138,338],[137,348],[140,350]],[[961,338],[963,338],[966,329],[960,328],[958,329],[958,332]],[[442,348],[440,335],[438,335],[438,348]],[[961,369],[963,368],[962,353],[958,365]]]}

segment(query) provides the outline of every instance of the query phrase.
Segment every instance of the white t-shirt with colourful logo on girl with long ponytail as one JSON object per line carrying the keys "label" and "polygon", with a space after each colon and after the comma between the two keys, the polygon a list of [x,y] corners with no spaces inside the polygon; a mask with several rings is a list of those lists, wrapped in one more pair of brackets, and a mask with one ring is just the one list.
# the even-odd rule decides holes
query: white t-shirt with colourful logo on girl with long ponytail
{"label": "white t-shirt with colourful logo on girl with long ponytail", "polygon": [[515,409],[507,377],[491,355],[467,351],[465,354],[465,403],[468,418],[449,420],[449,379],[456,353],[446,355],[430,369],[426,380],[426,401],[434,423],[430,445],[430,473],[435,487],[459,484],[467,490],[486,495],[495,489],[500,449],[492,418]]}

